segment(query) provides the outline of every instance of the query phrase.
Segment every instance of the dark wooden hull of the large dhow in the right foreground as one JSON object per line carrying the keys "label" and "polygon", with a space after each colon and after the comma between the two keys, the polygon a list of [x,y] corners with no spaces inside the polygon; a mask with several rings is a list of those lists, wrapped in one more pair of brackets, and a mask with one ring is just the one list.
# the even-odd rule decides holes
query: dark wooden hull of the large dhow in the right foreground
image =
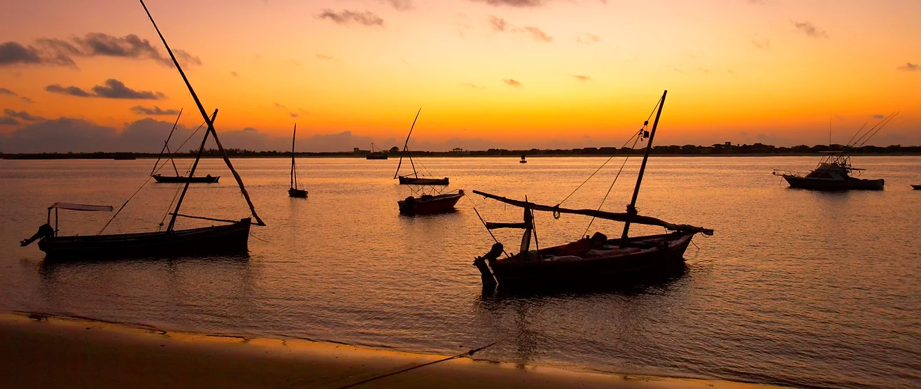
{"label": "dark wooden hull of the large dhow in the right foreground", "polygon": [[[622,253],[598,257],[571,257],[573,259],[537,260],[507,259],[489,260],[489,268],[499,285],[530,285],[535,282],[571,282],[574,280],[647,277],[668,272],[684,263],[684,251],[694,237],[693,232],[673,232],[630,238],[628,247]],[[620,246],[620,239],[606,244]],[[564,246],[542,249],[541,254],[554,253]],[[639,247],[645,247],[639,249]],[[569,258],[560,256],[559,258]]]}

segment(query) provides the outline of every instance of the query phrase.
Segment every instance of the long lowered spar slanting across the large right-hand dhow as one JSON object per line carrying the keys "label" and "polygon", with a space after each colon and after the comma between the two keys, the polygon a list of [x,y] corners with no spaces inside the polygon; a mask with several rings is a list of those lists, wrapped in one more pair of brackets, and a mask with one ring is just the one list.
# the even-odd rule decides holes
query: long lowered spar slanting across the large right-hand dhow
{"label": "long lowered spar slanting across the large right-hand dhow", "polygon": [[[473,191],[473,193],[477,195],[482,195],[487,198],[492,198],[502,203],[506,203],[509,206],[520,206],[523,208],[530,208],[535,211],[554,212],[555,214],[565,213],[565,214],[584,215],[584,216],[604,218],[604,219],[614,220],[614,221],[623,221],[623,222],[630,222],[630,223],[635,223],[635,224],[646,224],[649,226],[661,226],[668,230],[673,230],[673,231],[700,232],[705,235],[713,235],[713,230],[710,230],[710,229],[705,229],[703,227],[694,227],[694,226],[687,225],[687,224],[673,224],[673,223],[669,223],[664,220],[660,220],[659,218],[650,218],[647,216],[633,215],[629,213],[605,212],[605,211],[600,211],[596,209],[569,209],[569,208],[563,208],[560,206],[542,206],[540,204],[530,203],[527,201],[513,200],[513,199],[499,196],[499,195],[490,195],[490,194],[480,192],[480,191]],[[522,227],[526,227],[526,224],[527,223],[523,223],[523,224],[522,223],[489,223],[486,225],[486,228],[490,230],[503,229],[503,228],[520,229]]]}

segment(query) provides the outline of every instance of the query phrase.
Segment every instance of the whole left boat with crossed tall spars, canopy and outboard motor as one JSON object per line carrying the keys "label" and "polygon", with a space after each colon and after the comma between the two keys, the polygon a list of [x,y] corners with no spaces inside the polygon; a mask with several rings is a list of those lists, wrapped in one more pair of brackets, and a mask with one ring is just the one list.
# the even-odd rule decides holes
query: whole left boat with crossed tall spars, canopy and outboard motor
{"label": "whole left boat with crossed tall spars, canopy and outboard motor", "polygon": [[[159,35],[160,40],[163,41],[163,45],[166,46],[167,53],[169,53],[169,57],[172,59],[173,65],[176,65],[176,69],[179,71],[182,80],[185,82],[186,87],[189,88],[189,92],[192,94],[192,99],[195,100],[195,104],[198,106],[199,112],[201,112],[202,116],[204,117],[205,124],[208,125],[207,130],[205,131],[202,138],[202,144],[198,148],[198,154],[196,155],[194,162],[192,162],[192,169],[189,172],[189,176],[192,177],[194,175],[195,169],[198,167],[198,162],[202,158],[202,153],[204,152],[205,141],[208,139],[209,135],[213,136],[217,145],[217,149],[224,157],[227,168],[231,173],[233,173],[234,178],[237,180],[240,193],[243,195],[243,198],[246,199],[247,204],[250,206],[251,218],[256,219],[257,225],[264,226],[265,223],[262,222],[262,219],[259,218],[259,215],[256,214],[255,207],[252,206],[250,194],[246,191],[246,187],[243,186],[242,179],[239,177],[237,171],[234,170],[233,165],[230,163],[230,159],[227,157],[227,151],[223,146],[221,146],[221,142],[217,138],[217,132],[214,126],[217,110],[215,110],[215,112],[210,117],[208,117],[208,114],[204,111],[204,106],[202,105],[201,100],[198,100],[198,95],[195,94],[195,90],[192,88],[192,84],[189,82],[189,79],[185,77],[185,73],[182,71],[179,62],[176,61],[176,56],[169,49],[169,44],[167,44],[166,39],[163,38],[163,34],[161,34],[160,30],[157,28],[157,23],[154,22],[154,18],[150,16],[150,12],[147,11],[147,6],[144,4],[143,0],[141,1],[141,6],[144,6],[147,18],[150,18],[150,22],[154,25],[154,29],[157,29],[157,35]],[[47,259],[52,260],[179,256],[208,253],[246,253],[250,237],[251,218],[230,220],[182,215],[180,214],[180,208],[182,206],[182,200],[185,198],[186,192],[188,190],[189,182],[185,182],[185,186],[182,187],[181,195],[179,195],[179,199],[176,201],[176,207],[172,210],[172,212],[168,213],[168,216],[171,216],[171,218],[169,218],[169,226],[166,230],[163,231],[160,231],[159,228],[157,228],[157,231],[154,232],[102,235],[102,231],[105,230],[104,226],[102,230],[99,230],[99,233],[96,235],[59,236],[57,226],[58,209],[103,211],[111,210],[111,206],[81,206],[57,203],[48,208],[47,223],[42,225],[39,228],[39,231],[36,232],[32,237],[20,242],[20,245],[26,246],[35,240],[40,240],[39,248],[41,251],[45,252]],[[129,201],[130,200],[131,199],[129,198]],[[122,205],[122,208],[124,208],[124,206],[127,204],[128,202],[125,201],[124,205]],[[122,208],[119,208],[119,211],[121,211]],[[55,210],[54,228],[51,227],[52,209]],[[118,212],[115,213],[115,216],[118,216]],[[229,224],[196,229],[176,230],[176,218],[178,217],[220,221]],[[108,223],[106,226],[108,226]],[[162,227],[163,223],[160,223],[159,226]]]}

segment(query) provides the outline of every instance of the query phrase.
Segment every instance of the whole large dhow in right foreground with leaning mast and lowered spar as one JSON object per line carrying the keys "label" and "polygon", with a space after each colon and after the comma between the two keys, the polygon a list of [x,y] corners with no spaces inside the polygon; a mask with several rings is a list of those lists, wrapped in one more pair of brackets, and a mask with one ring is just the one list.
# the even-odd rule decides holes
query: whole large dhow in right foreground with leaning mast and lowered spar
{"label": "whole large dhow in right foreground with leaning mast and lowered spar", "polygon": [[[500,258],[505,253],[505,250],[503,244],[496,241],[489,253],[477,257],[473,262],[473,265],[481,272],[484,285],[498,283],[501,285],[517,284],[539,287],[542,283],[561,285],[574,280],[585,281],[597,278],[613,281],[631,277],[647,277],[648,275],[666,272],[676,265],[682,265],[684,251],[687,249],[688,244],[691,243],[694,234],[713,234],[713,230],[684,224],[673,224],[659,218],[640,216],[636,211],[636,198],[639,195],[649,151],[656,135],[656,129],[659,126],[659,117],[661,116],[667,93],[668,91],[662,93],[662,97],[657,104],[658,112],[656,113],[656,120],[652,124],[651,133],[646,131],[649,123],[647,120],[636,135],[637,140],[648,137],[648,143],[646,153],[643,156],[643,163],[640,165],[639,175],[636,178],[633,199],[630,205],[627,206],[627,212],[613,213],[601,211],[600,209],[571,209],[560,205],[545,206],[532,203],[527,198],[521,201],[473,191],[474,194],[483,195],[486,198],[524,209],[524,220],[520,223],[484,222],[487,230],[524,230],[519,253],[506,254],[506,258]],[[608,239],[603,233],[596,232],[590,238],[587,236],[576,242],[542,249],[537,239],[537,230],[533,221],[534,211],[552,212],[554,218],[558,218],[562,214],[574,214],[621,221],[624,222],[624,230],[620,239]],[[632,223],[660,226],[673,232],[629,237],[628,231]],[[531,237],[534,238],[534,242],[537,245],[536,250],[533,251],[530,250]]]}

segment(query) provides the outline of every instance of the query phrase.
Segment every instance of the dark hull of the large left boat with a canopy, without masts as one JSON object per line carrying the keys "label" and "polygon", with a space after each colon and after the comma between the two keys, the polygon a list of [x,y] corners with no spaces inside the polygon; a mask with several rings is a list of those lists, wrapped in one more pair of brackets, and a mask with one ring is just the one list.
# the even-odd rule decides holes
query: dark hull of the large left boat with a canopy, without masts
{"label": "dark hull of the large left boat with a canopy, without masts", "polygon": [[39,241],[50,260],[247,253],[250,218],[223,226],[131,234],[54,236]]}

